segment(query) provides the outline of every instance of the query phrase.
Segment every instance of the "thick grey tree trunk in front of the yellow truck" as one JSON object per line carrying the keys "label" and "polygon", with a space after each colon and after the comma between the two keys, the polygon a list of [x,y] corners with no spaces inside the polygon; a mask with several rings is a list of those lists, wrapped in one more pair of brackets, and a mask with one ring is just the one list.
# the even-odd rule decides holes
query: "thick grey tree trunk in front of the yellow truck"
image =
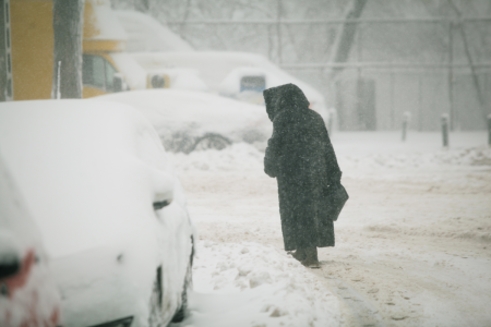
{"label": "thick grey tree trunk in front of the yellow truck", "polygon": [[82,98],[84,0],[53,0],[53,74],[51,97]]}

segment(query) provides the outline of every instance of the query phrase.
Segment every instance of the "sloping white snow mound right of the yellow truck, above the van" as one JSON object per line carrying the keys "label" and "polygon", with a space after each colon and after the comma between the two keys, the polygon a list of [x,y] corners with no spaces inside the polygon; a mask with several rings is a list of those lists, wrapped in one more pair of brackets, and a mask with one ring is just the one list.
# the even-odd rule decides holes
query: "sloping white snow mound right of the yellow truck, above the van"
{"label": "sloping white snow mound right of the yellow truck, above the van", "polygon": [[128,51],[193,51],[182,38],[149,15],[136,11],[115,11],[128,34]]}

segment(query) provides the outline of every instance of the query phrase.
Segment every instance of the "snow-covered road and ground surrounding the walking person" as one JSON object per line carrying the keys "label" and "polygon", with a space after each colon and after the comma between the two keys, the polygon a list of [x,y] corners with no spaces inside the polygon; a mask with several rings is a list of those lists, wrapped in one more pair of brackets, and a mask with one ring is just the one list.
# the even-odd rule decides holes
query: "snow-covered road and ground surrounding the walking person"
{"label": "snow-covered road and ground surrounding the walking person", "polygon": [[176,326],[491,326],[486,133],[332,138],[350,199],[316,270],[283,251],[262,145],[172,155],[200,239]]}

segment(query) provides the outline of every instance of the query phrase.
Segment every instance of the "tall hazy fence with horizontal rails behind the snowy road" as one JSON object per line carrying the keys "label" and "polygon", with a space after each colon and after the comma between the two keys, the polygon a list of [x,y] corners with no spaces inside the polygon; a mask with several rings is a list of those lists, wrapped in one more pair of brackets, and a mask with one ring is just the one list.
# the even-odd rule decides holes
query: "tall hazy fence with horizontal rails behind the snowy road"
{"label": "tall hazy fence with horizontal rails behind the snowy road", "polygon": [[[203,50],[260,52],[323,93],[342,130],[486,126],[491,112],[491,17],[188,21],[167,24]],[[330,62],[339,26],[357,24],[344,62]],[[206,43],[203,43],[206,39]],[[333,77],[335,76],[335,77]]]}

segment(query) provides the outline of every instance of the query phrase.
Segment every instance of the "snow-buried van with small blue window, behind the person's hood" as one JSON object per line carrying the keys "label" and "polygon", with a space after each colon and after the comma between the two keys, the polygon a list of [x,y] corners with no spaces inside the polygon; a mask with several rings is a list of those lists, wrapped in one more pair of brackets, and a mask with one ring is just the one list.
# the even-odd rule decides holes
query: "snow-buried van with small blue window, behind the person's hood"
{"label": "snow-buried van with small blue window, behind the person's hood", "polygon": [[[247,102],[264,104],[262,92],[282,84],[298,85],[320,113],[325,112],[324,97],[320,92],[276,66],[264,56],[248,52],[172,51],[135,52],[132,57],[147,72],[166,73],[179,78],[183,69],[200,73],[208,92]],[[176,76],[176,77],[175,77]],[[183,85],[180,88],[185,88]]]}

